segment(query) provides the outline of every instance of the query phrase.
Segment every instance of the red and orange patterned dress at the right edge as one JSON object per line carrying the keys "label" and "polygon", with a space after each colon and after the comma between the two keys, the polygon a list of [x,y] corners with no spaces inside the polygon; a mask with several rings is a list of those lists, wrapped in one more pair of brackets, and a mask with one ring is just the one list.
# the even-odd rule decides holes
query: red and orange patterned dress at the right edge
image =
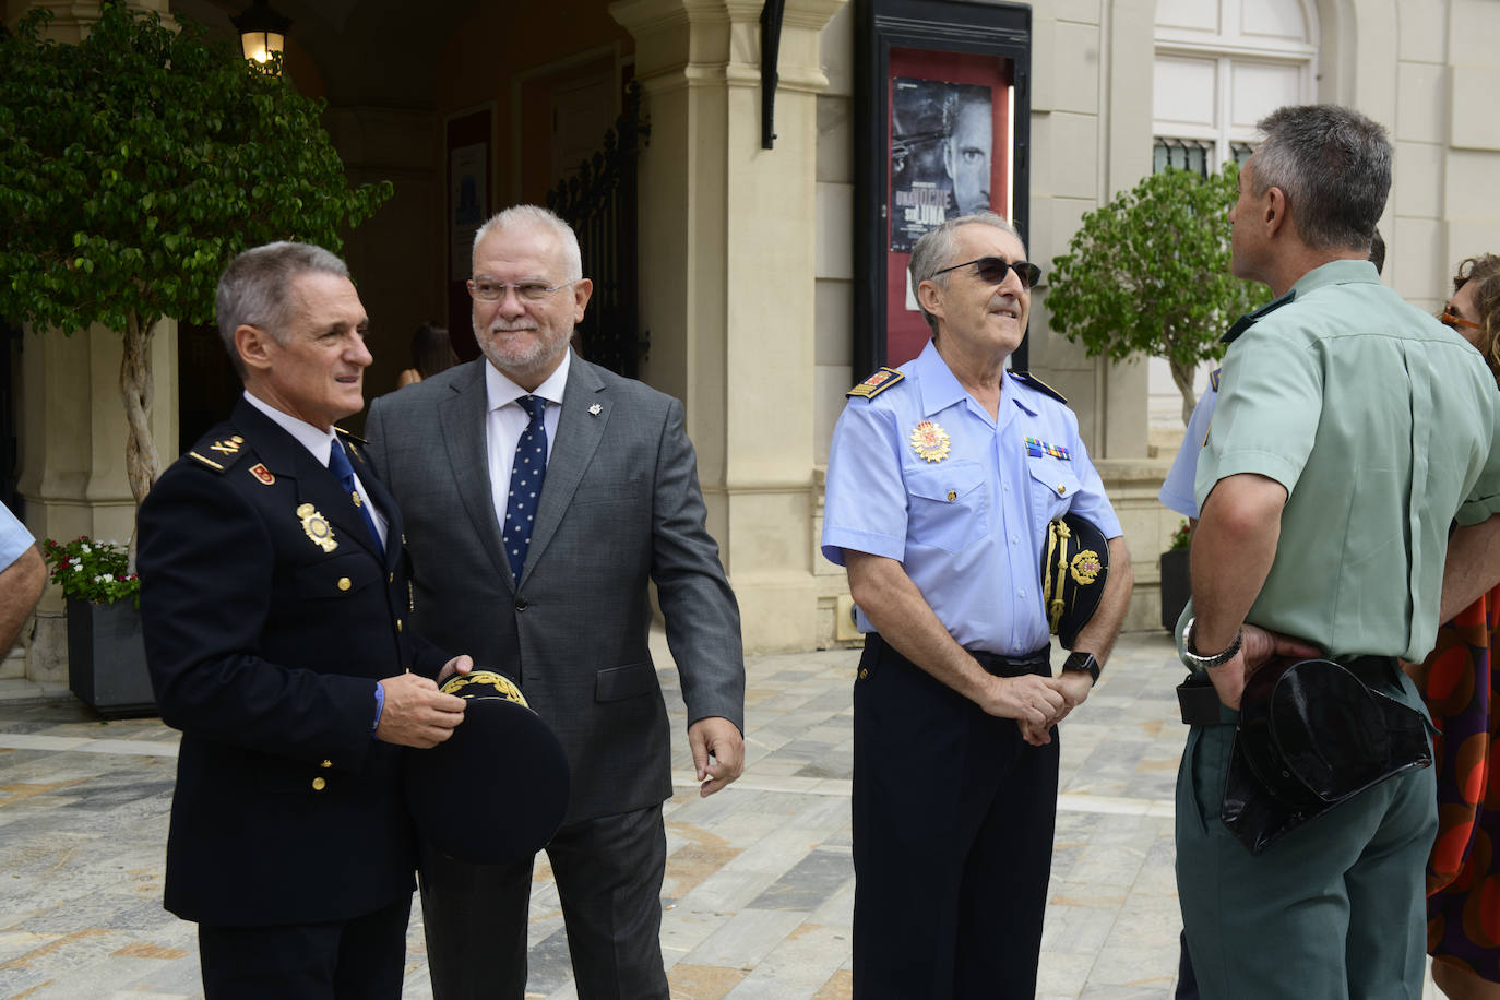
{"label": "red and orange patterned dress at the right edge", "polygon": [[[1434,742],[1437,840],[1426,867],[1426,951],[1434,960],[1500,982],[1500,769],[1491,649],[1500,588],[1437,633],[1418,675],[1442,733]],[[1500,706],[1497,706],[1500,709]]]}

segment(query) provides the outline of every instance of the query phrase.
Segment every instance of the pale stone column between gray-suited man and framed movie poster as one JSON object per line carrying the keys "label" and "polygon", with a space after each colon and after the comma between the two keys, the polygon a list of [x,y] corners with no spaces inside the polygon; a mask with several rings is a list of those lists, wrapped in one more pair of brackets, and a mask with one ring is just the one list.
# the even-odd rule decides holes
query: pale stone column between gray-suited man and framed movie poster
{"label": "pale stone column between gray-suited man and framed movie poster", "polygon": [[747,649],[810,649],[819,31],[788,0],[774,148],[760,147],[762,0],[618,0],[651,141],[640,157],[644,376],[687,405],[710,531]]}

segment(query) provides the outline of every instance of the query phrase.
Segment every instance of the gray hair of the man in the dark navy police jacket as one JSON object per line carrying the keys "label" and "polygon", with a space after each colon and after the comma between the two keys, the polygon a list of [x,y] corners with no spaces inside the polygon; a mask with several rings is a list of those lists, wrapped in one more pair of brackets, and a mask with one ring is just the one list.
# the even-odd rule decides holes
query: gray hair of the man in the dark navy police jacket
{"label": "gray hair of the man in the dark navy police jacket", "polygon": [[318,271],[348,277],[350,268],[338,256],[312,243],[267,243],[244,250],[230,261],[219,277],[214,316],[219,339],[230,354],[234,373],[244,379],[244,361],[234,346],[240,327],[264,330],[278,343],[286,343],[286,309],[291,282],[298,274]]}

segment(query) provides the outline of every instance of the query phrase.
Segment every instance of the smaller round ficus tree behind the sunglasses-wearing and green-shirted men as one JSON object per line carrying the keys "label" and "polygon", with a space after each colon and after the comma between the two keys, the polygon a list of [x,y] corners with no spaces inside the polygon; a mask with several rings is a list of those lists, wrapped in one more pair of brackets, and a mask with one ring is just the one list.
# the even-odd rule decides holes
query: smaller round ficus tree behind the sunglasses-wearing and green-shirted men
{"label": "smaller round ficus tree behind the sunglasses-wearing and green-shirted men", "polygon": [[[1224,354],[1220,337],[1263,304],[1263,286],[1230,274],[1228,210],[1239,166],[1216,174],[1167,168],[1083,216],[1068,252],[1052,261],[1052,328],[1089,357],[1164,358],[1182,393],[1186,426],[1198,366]],[[1186,523],[1161,556],[1162,624],[1176,625],[1191,594]],[[1176,601],[1170,624],[1168,595]]]}

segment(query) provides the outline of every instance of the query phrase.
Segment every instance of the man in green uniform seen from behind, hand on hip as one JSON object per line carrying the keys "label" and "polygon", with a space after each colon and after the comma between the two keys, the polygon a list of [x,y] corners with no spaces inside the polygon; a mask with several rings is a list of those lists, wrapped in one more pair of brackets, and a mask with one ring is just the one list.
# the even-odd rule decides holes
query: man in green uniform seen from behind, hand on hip
{"label": "man in green uniform seen from behind, hand on hip", "polygon": [[1246,678],[1323,655],[1419,709],[1396,657],[1432,646],[1448,532],[1500,510],[1497,397],[1476,351],[1386,289],[1366,253],[1384,129],[1281,108],[1239,175],[1233,271],[1276,301],[1232,330],[1198,459],[1184,663],[1218,724],[1178,778],[1178,891],[1202,996],[1419,997],[1431,769],[1407,771],[1251,855],[1221,822]]}

